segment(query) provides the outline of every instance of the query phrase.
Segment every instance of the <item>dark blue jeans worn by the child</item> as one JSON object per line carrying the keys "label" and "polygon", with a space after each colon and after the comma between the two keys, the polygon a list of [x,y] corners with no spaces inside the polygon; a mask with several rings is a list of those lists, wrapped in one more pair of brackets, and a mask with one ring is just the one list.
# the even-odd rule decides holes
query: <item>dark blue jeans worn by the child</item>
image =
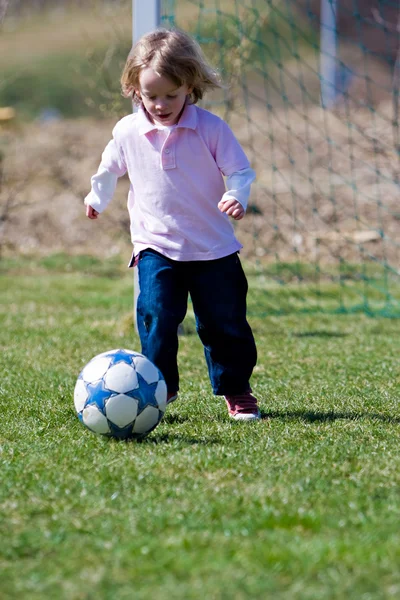
{"label": "dark blue jeans worn by the child", "polygon": [[168,391],[179,389],[178,326],[189,294],[214,394],[248,390],[257,350],[246,319],[247,280],[239,256],[178,262],[148,249],[140,253],[138,269],[142,353],[160,369]]}

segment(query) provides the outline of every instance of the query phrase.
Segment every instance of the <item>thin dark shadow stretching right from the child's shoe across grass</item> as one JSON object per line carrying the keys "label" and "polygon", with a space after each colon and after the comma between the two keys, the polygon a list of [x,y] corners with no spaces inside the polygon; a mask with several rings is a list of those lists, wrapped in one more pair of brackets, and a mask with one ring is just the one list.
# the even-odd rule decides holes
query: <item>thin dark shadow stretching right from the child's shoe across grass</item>
{"label": "thin dark shadow stretching right from the child's shoe across grass", "polygon": [[390,415],[381,415],[378,413],[357,413],[357,412],[335,412],[335,411],[327,411],[327,412],[319,412],[312,410],[285,410],[285,411],[261,411],[262,419],[281,419],[281,420],[297,420],[297,421],[305,421],[307,423],[327,423],[338,420],[347,420],[347,421],[361,421],[363,419],[368,419],[372,421],[381,421],[382,423],[394,423],[399,424],[399,417],[392,417]]}

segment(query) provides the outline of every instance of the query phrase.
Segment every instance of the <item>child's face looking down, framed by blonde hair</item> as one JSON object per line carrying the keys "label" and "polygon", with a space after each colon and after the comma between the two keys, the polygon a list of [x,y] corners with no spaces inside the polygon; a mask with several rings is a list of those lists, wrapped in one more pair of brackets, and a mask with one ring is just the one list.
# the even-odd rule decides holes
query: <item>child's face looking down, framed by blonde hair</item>
{"label": "child's face looking down, framed by blonde hair", "polygon": [[139,84],[140,89],[135,92],[153,121],[161,125],[175,125],[193,88],[187,85],[177,88],[171,79],[158,75],[151,67],[141,71]]}

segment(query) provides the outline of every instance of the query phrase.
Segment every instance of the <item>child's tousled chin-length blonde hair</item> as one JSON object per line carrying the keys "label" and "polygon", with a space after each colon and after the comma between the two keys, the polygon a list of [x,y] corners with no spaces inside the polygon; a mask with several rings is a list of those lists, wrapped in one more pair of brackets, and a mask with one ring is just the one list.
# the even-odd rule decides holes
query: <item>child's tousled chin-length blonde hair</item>
{"label": "child's tousled chin-length blonde hair", "polygon": [[197,42],[177,29],[156,29],[144,35],[133,46],[121,76],[122,94],[140,104],[136,94],[143,69],[151,67],[158,75],[171,79],[177,86],[193,88],[192,104],[204,93],[221,87],[216,71],[207,63]]}

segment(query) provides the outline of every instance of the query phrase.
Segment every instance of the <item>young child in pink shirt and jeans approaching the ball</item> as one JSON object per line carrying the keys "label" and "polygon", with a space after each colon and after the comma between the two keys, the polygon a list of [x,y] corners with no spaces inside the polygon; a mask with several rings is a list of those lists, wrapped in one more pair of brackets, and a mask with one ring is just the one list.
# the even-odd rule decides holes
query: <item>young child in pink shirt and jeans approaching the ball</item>
{"label": "young child in pink shirt and jeans approaching the ball", "polygon": [[242,246],[229,221],[243,218],[255,174],[228,125],[196,106],[220,87],[217,76],[190,36],[158,29],[133,47],[121,83],[139,109],[115,126],[85,205],[97,219],[128,173],[142,353],[164,375],[168,402],[176,400],[177,332],[190,294],[214,394],[232,418],[259,419]]}

